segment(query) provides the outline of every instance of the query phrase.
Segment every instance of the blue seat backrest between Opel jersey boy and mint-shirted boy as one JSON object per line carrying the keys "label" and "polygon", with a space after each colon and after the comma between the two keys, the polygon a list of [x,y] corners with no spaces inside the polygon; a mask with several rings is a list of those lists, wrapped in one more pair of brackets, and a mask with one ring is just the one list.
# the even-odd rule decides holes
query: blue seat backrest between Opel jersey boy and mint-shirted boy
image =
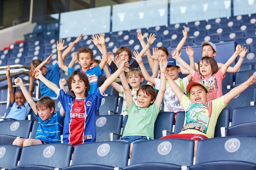
{"label": "blue seat backrest between Opel jersey boy and mint-shirted boy", "polygon": [[[109,133],[121,133],[122,115],[96,115],[96,141],[110,141]],[[113,140],[117,140],[118,136],[114,135]]]}

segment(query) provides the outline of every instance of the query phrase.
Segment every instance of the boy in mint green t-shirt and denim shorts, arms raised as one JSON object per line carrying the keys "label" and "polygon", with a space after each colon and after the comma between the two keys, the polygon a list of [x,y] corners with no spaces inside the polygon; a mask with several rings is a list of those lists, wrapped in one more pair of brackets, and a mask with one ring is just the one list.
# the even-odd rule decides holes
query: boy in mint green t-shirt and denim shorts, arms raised
{"label": "boy in mint green t-shirt and denim shorts, arms raised", "polygon": [[[140,54],[134,52],[134,56]],[[134,58],[135,59],[135,58]],[[160,61],[160,69],[166,67],[167,62]],[[161,76],[160,90],[156,95],[154,88],[150,85],[143,85],[137,91],[137,104],[132,100],[132,93],[125,78],[124,73],[121,74],[122,85],[126,95],[126,111],[128,120],[121,140],[131,143],[130,156],[134,142],[154,139],[154,124],[160,111],[163,95],[166,88],[165,75]]]}

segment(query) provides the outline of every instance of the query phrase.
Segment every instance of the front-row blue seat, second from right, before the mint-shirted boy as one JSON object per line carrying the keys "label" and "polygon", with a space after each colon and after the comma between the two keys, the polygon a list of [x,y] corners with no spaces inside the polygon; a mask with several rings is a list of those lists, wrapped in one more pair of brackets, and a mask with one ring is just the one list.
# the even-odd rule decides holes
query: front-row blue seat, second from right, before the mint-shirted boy
{"label": "front-row blue seat, second from right, before the mint-shirted boy", "polygon": [[137,142],[133,145],[130,165],[122,170],[180,170],[181,166],[193,164],[193,154],[193,140],[177,138]]}

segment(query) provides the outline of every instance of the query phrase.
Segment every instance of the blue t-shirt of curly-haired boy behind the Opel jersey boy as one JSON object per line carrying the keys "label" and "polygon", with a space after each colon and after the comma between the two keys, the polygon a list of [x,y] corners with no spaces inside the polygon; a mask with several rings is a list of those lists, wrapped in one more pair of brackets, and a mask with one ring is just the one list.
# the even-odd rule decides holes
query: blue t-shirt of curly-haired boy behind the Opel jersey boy
{"label": "blue t-shirt of curly-haired boy behind the Opel jersey boy", "polygon": [[[68,76],[76,70],[80,69],[73,69],[68,67]],[[83,72],[80,70],[80,72]],[[90,91],[88,91],[88,95],[91,95],[94,93],[95,89],[97,88],[97,83],[98,83],[98,77],[103,74],[103,70],[100,69],[99,65],[97,67],[93,67],[90,70],[87,70],[86,72],[83,72],[87,75],[89,79],[89,84],[90,84]]]}

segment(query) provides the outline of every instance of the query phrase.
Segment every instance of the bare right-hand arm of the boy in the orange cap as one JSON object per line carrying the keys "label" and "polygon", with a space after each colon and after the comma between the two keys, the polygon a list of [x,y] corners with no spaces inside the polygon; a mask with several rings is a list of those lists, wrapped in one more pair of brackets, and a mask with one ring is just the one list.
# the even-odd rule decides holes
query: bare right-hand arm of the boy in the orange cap
{"label": "bare right-hand arm of the boy in the orange cap", "polygon": [[[232,88],[227,94],[225,94],[224,97],[224,104],[230,103],[230,101],[235,98],[235,96],[239,95],[243,91],[245,91],[246,88],[248,88],[250,85],[256,82],[256,75],[252,75],[248,80],[240,84],[239,86]],[[255,95],[255,94],[254,94]]]}

